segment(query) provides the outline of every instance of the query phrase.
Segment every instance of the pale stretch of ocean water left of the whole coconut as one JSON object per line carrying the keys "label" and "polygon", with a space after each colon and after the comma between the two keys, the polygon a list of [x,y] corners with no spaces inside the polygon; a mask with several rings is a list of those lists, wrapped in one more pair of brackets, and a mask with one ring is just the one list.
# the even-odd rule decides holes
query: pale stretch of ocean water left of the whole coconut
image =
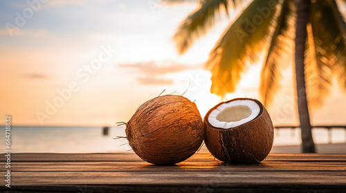
{"label": "pale stretch of ocean water left of the whole coconut", "polygon": [[[126,139],[125,126],[109,128],[103,136],[98,127],[16,127],[11,129],[12,152],[124,152],[131,150]],[[5,150],[5,130],[0,134],[0,150]],[[3,151],[1,151],[3,152]]]}

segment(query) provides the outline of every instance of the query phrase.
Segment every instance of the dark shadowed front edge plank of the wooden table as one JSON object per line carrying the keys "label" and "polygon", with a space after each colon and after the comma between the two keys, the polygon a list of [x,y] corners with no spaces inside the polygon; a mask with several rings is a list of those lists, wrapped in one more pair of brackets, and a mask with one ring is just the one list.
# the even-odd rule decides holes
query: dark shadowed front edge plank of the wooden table
{"label": "dark shadowed front edge plank of the wooden table", "polygon": [[44,187],[37,187],[35,185],[21,185],[11,187],[10,190],[1,188],[4,193],[7,192],[196,192],[196,193],[210,193],[210,192],[233,192],[233,193],[243,193],[243,192],[253,192],[253,193],[271,193],[271,192],[314,192],[314,193],[326,193],[326,192],[336,192],[345,193],[345,186],[341,185],[286,185],[286,184],[273,184],[273,185],[219,185],[219,184],[208,184],[208,185],[94,185],[94,184],[78,184],[78,185],[46,185]]}

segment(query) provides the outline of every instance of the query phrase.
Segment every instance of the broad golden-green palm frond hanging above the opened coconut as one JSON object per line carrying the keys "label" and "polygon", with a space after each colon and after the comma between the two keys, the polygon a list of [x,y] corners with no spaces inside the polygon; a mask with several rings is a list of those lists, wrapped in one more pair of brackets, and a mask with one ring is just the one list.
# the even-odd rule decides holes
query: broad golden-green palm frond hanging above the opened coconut
{"label": "broad golden-green palm frond hanging above the opened coconut", "polygon": [[268,6],[269,2],[273,1],[253,1],[210,52],[206,62],[206,68],[212,72],[210,92],[219,96],[234,92],[246,63],[259,59],[273,34],[273,21],[283,1],[274,1],[273,6]]}

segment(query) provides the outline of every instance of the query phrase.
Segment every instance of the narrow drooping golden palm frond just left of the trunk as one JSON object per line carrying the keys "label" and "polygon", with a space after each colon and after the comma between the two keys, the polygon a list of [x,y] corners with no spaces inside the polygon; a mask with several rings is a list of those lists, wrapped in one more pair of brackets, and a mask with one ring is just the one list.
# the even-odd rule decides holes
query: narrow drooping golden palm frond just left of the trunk
{"label": "narrow drooping golden palm frond just left of the trunk", "polygon": [[261,72],[260,95],[264,105],[273,101],[275,92],[280,88],[281,72],[293,56],[295,19],[295,3],[285,0]]}

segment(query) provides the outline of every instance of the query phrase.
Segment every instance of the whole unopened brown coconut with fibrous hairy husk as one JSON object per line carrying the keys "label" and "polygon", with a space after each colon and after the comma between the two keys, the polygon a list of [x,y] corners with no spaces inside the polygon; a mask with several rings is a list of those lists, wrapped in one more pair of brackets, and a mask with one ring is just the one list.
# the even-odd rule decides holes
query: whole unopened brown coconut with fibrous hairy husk
{"label": "whole unopened brown coconut with fibrous hairy husk", "polygon": [[171,165],[199,149],[204,128],[195,103],[183,96],[165,95],[140,105],[126,124],[126,135],[141,159]]}

